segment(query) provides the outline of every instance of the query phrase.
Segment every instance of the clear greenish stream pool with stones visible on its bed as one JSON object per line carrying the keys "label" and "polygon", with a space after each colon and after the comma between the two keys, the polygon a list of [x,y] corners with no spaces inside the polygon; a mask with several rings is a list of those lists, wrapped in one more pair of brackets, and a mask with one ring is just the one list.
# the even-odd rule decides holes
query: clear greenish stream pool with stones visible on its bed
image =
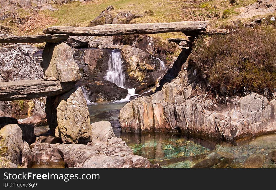
{"label": "clear greenish stream pool with stones visible on its bed", "polygon": [[115,135],[122,138],[134,154],[148,158],[152,164],[160,163],[164,168],[276,168],[276,163],[265,158],[269,152],[276,150],[276,134],[231,143],[183,134],[120,132],[118,116],[125,104],[126,102],[88,105],[90,121],[109,121]]}

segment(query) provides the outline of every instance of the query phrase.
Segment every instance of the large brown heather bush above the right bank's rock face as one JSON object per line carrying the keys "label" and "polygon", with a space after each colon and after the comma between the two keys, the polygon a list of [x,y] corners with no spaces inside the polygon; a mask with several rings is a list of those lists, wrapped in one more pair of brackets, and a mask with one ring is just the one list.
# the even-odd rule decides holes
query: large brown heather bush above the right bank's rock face
{"label": "large brown heather bush above the right bank's rock face", "polygon": [[202,36],[191,53],[190,64],[222,95],[244,89],[263,94],[276,88],[274,26],[239,28],[228,35]]}

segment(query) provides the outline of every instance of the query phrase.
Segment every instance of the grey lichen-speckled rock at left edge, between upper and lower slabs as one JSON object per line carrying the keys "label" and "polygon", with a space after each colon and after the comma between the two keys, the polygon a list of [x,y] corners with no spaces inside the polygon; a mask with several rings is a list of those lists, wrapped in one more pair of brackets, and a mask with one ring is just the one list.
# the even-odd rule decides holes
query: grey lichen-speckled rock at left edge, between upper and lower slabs
{"label": "grey lichen-speckled rock at left edge, between upper and lower slabs", "polygon": [[0,80],[37,80],[43,77],[43,69],[33,54],[21,48],[0,50]]}

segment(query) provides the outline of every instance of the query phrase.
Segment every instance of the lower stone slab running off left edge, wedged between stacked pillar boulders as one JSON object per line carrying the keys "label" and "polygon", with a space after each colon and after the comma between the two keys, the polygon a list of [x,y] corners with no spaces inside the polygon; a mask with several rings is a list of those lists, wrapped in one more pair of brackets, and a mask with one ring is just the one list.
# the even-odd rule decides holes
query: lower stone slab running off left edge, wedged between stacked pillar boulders
{"label": "lower stone slab running off left edge, wedged between stacked pillar boulders", "polygon": [[20,80],[0,82],[0,100],[24,100],[54,96],[74,88],[75,83],[61,83],[58,80]]}

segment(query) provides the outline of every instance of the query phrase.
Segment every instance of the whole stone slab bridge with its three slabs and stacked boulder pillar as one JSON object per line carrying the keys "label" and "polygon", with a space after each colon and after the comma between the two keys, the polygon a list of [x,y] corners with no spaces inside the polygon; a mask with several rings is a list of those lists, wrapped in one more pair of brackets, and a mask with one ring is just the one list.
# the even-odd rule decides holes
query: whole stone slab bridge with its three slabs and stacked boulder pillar
{"label": "whole stone slab bridge with its three slabs and stacked boulder pillar", "polygon": [[[74,110],[71,114],[75,114],[75,116],[72,116],[72,122],[69,123],[73,124],[77,122],[74,119],[75,117],[78,117],[81,121],[73,125],[79,125],[79,123],[83,122],[90,123],[89,114],[86,116],[88,109],[82,90],[76,87],[77,81],[81,78],[78,65],[73,59],[71,47],[66,43],[62,43],[68,39],[69,35],[112,36],[183,32],[187,36],[196,36],[207,31],[208,23],[209,21],[104,24],[94,27],[77,28],[53,26],[45,28],[43,30],[44,35],[0,37],[0,43],[46,42],[42,54],[43,79],[0,82],[0,100],[23,100],[47,96],[45,111],[50,130],[56,136],[61,136],[66,130],[63,130],[61,127],[57,130],[57,126],[61,125],[58,124],[58,118],[62,117],[59,115],[61,113],[60,110]],[[80,99],[76,97],[76,94],[81,96]],[[67,99],[70,101],[67,101]],[[73,103],[71,104],[70,102]],[[82,113],[83,109],[80,109],[81,106],[84,106],[83,104],[86,106],[85,114]],[[68,113],[65,117],[69,115]],[[82,131],[81,125],[79,126],[79,131]],[[67,134],[67,136],[72,137],[72,134]]]}

